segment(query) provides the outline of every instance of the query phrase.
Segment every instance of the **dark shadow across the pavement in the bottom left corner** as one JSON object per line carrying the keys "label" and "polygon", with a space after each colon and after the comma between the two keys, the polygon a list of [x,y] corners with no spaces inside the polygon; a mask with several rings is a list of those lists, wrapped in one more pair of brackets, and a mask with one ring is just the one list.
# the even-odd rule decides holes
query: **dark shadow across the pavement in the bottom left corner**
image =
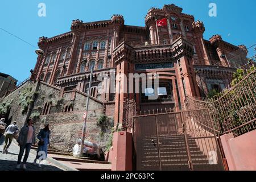
{"label": "dark shadow across the pavement in the bottom left corner", "polygon": [[13,160],[0,159],[0,171],[63,171],[55,166],[41,164],[42,168],[35,166],[33,163],[27,163],[27,169],[16,169],[17,162]]}

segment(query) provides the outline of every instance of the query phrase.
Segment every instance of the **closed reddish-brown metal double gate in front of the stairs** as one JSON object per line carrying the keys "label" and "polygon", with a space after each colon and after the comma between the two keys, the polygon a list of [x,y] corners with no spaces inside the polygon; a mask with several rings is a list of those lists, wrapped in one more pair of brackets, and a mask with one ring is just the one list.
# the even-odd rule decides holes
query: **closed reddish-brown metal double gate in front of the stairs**
{"label": "closed reddish-brown metal double gate in front of the stairs", "polygon": [[208,109],[133,117],[137,170],[223,170]]}

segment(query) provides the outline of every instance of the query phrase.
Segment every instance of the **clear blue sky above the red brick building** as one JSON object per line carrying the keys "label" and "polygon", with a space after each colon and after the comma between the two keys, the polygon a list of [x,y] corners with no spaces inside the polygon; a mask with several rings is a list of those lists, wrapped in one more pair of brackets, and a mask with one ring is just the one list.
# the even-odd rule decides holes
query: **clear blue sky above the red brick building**
{"label": "clear blue sky above the red brick building", "polygon": [[[46,17],[38,16],[38,4],[46,4]],[[217,17],[208,15],[209,3],[216,3]],[[247,47],[256,43],[255,0],[2,0],[0,27],[37,47],[40,36],[55,36],[70,31],[73,19],[84,22],[110,19],[122,14],[125,24],[144,26],[144,16],[151,7],[174,3],[183,13],[204,22],[204,38],[220,34],[226,42]],[[35,48],[0,30],[0,72],[18,81],[30,76],[36,63]],[[249,56],[255,55],[253,48]]]}

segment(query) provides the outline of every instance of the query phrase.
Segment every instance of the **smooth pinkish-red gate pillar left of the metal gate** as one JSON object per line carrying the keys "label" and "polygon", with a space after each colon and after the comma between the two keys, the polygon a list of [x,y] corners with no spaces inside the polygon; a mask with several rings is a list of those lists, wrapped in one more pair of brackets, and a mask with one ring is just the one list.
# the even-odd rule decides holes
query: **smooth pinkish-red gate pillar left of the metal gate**
{"label": "smooth pinkish-red gate pillar left of the metal gate", "polygon": [[112,171],[133,169],[133,135],[126,131],[113,134]]}

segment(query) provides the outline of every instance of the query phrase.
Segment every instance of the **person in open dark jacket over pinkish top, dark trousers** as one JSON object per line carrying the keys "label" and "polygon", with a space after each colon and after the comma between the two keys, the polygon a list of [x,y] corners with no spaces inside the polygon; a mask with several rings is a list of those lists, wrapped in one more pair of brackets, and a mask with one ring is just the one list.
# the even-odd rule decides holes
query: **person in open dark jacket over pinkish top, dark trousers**
{"label": "person in open dark jacket over pinkish top, dark trousers", "polygon": [[33,120],[32,119],[27,119],[26,124],[22,127],[19,133],[19,137],[17,142],[19,143],[19,155],[18,155],[18,162],[16,168],[20,168],[20,163],[22,160],[22,155],[24,153],[24,150],[26,150],[23,162],[22,162],[22,168],[26,168],[26,162],[28,155],[30,154],[30,149],[32,144],[35,144],[35,128],[33,126]]}

